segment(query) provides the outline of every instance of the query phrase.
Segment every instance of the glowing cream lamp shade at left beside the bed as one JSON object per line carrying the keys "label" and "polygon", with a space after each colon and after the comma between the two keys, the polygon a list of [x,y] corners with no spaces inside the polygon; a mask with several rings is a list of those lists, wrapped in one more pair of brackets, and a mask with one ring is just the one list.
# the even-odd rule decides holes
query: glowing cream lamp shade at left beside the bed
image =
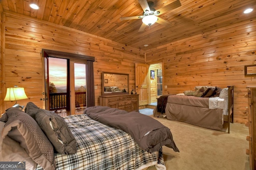
{"label": "glowing cream lamp shade at left beside the bed", "polygon": [[14,86],[14,87],[7,88],[4,101],[15,101],[15,100],[22,100],[27,98],[28,97],[26,96],[23,87]]}

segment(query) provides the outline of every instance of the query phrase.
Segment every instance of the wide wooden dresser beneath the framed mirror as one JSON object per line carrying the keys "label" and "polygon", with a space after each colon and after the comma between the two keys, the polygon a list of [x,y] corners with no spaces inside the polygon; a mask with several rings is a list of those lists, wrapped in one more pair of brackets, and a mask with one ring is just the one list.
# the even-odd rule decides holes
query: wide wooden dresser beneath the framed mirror
{"label": "wide wooden dresser beneath the framed mirror", "polygon": [[126,111],[139,111],[139,94],[104,95],[100,97],[100,106],[108,106]]}

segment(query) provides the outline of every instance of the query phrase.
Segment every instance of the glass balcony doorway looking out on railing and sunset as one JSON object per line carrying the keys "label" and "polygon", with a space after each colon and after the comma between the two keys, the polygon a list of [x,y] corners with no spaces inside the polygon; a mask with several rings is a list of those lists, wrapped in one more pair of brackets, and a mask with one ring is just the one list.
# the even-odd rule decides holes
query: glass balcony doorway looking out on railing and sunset
{"label": "glass balcony doorway looking out on railing and sunset", "polygon": [[48,57],[47,66],[46,109],[61,116],[82,113],[86,107],[86,61]]}

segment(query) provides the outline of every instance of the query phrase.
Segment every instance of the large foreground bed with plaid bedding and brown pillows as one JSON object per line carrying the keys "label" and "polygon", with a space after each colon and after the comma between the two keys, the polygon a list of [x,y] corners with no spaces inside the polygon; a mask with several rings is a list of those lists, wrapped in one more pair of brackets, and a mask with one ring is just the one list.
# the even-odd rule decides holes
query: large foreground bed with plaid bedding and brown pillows
{"label": "large foreground bed with plaid bedding and brown pillows", "polygon": [[[12,107],[0,118],[0,159],[26,162],[26,169],[141,170],[155,166],[165,170],[162,146],[179,152],[170,129],[138,112],[95,106],[86,108],[84,114],[62,118],[54,112],[38,108],[32,102],[27,104],[25,111]],[[125,123],[100,122],[100,117],[105,120],[107,117],[126,119],[126,116],[131,120],[134,117],[132,127],[138,126],[141,119],[145,122],[148,119],[153,129],[148,126],[151,129],[144,129],[144,132],[147,131],[144,134],[140,130],[133,132]],[[152,135],[161,135],[163,131],[166,137],[162,141],[154,145],[146,143],[145,146],[144,138],[152,141]],[[137,138],[137,134],[143,134],[143,137]]]}

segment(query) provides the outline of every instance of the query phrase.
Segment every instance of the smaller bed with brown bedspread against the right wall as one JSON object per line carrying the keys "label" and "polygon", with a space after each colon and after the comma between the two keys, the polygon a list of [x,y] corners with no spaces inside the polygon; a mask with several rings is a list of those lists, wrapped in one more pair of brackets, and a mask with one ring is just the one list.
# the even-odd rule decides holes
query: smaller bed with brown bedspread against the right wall
{"label": "smaller bed with brown bedspread against the right wall", "polygon": [[[198,91],[199,90],[199,91]],[[234,86],[196,86],[194,92],[185,90],[176,95],[163,95],[158,98],[154,117],[182,121],[199,127],[222,130],[224,121],[233,123]],[[189,94],[191,93],[191,94]]]}

